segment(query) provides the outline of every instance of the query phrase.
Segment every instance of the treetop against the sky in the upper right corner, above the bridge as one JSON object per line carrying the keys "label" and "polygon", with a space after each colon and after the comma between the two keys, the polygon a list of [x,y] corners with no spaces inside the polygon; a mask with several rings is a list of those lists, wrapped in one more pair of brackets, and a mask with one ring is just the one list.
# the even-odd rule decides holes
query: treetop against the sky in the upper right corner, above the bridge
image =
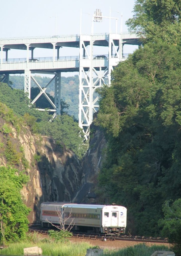
{"label": "treetop against the sky in the upper right corner, above the bridge", "polygon": [[137,0],[133,18],[126,24],[147,40],[161,38],[165,42],[178,43],[181,34],[181,2],[179,0]]}

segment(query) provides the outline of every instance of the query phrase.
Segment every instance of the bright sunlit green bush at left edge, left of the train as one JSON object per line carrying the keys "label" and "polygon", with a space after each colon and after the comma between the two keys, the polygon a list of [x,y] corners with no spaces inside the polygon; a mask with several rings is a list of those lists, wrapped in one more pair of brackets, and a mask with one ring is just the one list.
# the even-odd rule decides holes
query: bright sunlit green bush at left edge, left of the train
{"label": "bright sunlit green bush at left edge, left of the train", "polygon": [[26,237],[28,231],[27,208],[20,190],[28,176],[11,167],[0,167],[0,242],[15,241]]}

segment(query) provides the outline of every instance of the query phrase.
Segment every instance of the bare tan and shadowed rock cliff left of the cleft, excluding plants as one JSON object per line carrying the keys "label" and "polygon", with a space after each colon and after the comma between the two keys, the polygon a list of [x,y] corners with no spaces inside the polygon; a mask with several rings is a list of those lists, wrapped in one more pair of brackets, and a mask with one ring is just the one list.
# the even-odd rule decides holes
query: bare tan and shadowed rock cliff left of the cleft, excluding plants
{"label": "bare tan and shadowed rock cliff left of the cleft, excluding plants", "polygon": [[[0,118],[0,128],[5,121]],[[24,203],[32,211],[29,221],[40,222],[40,204],[43,201],[70,201],[78,188],[78,175],[80,173],[79,161],[76,155],[66,149],[62,144],[55,144],[51,137],[32,135],[27,127],[23,127],[18,134],[16,129],[9,125],[12,132],[0,132],[0,142],[7,146],[7,141],[15,145],[17,152],[24,153],[28,161],[26,173],[30,180],[22,189]],[[8,136],[8,137],[7,137]],[[7,163],[4,149],[0,150],[0,165]],[[21,159],[15,168],[23,170],[24,163]]]}

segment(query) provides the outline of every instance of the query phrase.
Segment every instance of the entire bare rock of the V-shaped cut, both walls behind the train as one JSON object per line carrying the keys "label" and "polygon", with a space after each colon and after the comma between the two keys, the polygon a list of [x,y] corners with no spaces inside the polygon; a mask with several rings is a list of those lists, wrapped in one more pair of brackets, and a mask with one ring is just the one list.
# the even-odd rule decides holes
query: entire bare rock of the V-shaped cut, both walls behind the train
{"label": "entire bare rock of the V-shaped cut, both walls behind the train", "polygon": [[94,189],[105,157],[106,140],[94,123],[90,126],[92,138],[81,167],[76,155],[63,144],[56,145],[52,137],[32,135],[27,127],[18,133],[10,124],[12,132],[4,134],[4,124],[0,118],[0,142],[4,144],[4,149],[0,148],[0,165],[8,164],[4,154],[8,141],[17,152],[23,152],[24,161],[21,158],[15,168],[26,169],[30,177],[21,191],[24,203],[32,209],[28,216],[30,223],[40,222],[40,205],[44,201],[95,202]]}

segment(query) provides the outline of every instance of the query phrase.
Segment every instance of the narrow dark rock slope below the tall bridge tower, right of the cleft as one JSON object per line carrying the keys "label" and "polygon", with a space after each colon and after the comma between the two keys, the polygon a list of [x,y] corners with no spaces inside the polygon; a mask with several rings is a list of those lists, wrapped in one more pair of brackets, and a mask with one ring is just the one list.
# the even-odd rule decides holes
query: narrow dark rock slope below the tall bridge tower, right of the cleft
{"label": "narrow dark rock slope below the tall bridge tower, right of the cleft", "polygon": [[81,165],[81,182],[77,190],[73,202],[77,203],[94,203],[94,189],[97,185],[97,176],[102,167],[105,158],[107,142],[103,132],[94,125],[90,125],[92,137],[89,141],[89,149],[82,160]]}

